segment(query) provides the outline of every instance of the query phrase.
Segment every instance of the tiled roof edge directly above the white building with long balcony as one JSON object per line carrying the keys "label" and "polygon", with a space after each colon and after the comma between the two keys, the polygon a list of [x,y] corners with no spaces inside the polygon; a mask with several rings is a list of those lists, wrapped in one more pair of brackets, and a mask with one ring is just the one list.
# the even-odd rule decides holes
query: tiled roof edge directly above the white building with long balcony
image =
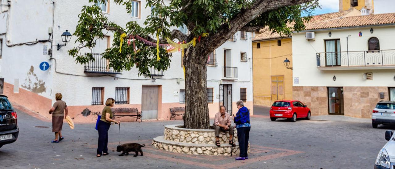
{"label": "tiled roof edge directly above the white building with long balcony", "polygon": [[378,24],[395,24],[395,13],[384,13],[376,15],[362,15],[355,17],[340,17],[337,19],[324,20],[317,23],[309,23],[305,30],[342,28],[353,26],[366,26]]}

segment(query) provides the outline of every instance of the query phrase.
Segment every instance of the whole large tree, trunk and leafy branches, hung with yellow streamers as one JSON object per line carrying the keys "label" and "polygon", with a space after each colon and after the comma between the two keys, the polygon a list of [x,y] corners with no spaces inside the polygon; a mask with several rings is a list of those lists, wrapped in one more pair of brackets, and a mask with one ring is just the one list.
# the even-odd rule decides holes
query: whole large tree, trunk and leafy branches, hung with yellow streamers
{"label": "whole large tree, trunk and leafy branches, hung with yellow streamers", "polygon": [[[107,0],[88,0],[91,4]],[[132,0],[113,0],[132,13]],[[173,47],[176,42],[182,51],[185,72],[185,128],[209,129],[207,103],[207,59],[208,54],[225,43],[237,31],[258,32],[268,28],[273,33],[288,34],[305,28],[304,23],[312,17],[310,11],[318,7],[317,0],[147,0],[145,8],[151,8],[145,25],[130,21],[118,25],[102,14],[96,5],[83,6],[74,35],[77,47],[69,54],[77,63],[93,61],[92,54],[82,54],[81,49],[92,47],[104,33],[114,34],[112,47],[106,49],[103,58],[109,60],[109,67],[116,71],[136,68],[139,75],[150,76],[150,68],[166,70],[171,62],[167,43]],[[302,13],[306,16],[302,17]],[[191,32],[184,35],[179,26],[186,26]],[[174,29],[175,28],[175,29]],[[124,39],[141,37],[144,41],[125,44]],[[198,39],[198,41],[196,41]],[[130,41],[128,41],[130,42]],[[192,43],[191,43],[192,42]],[[159,48],[159,43],[163,44]],[[156,45],[153,45],[156,44]],[[190,45],[193,44],[193,45]],[[177,49],[177,48],[176,48]],[[160,56],[160,59],[158,58]]]}

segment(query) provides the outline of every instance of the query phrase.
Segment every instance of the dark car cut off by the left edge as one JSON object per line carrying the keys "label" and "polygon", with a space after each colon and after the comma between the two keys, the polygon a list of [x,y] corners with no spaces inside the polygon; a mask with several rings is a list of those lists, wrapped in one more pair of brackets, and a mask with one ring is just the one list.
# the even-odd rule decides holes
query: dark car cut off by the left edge
{"label": "dark car cut off by the left edge", "polygon": [[8,97],[0,95],[0,147],[17,141],[18,134],[17,113]]}

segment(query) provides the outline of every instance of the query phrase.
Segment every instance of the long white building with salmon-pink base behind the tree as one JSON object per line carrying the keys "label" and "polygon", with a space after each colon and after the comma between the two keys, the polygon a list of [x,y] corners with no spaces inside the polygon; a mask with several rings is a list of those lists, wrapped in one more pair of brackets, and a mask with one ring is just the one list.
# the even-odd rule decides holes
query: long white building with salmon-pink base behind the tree
{"label": "long white building with salmon-pink base behind the tree", "polygon": [[[79,45],[74,44],[75,36],[59,50],[57,45],[64,44],[60,36],[63,32],[75,32],[84,5],[93,4],[88,4],[88,0],[2,0],[0,78],[4,79],[4,95],[48,118],[55,94],[62,93],[69,115],[76,122],[94,122],[107,98],[115,98],[115,107],[143,111],[143,119],[169,120],[170,107],[185,106],[181,53],[173,53],[168,70],[152,70],[154,80],[139,77],[137,69],[113,72],[106,68],[105,60],[100,60],[100,53],[111,46],[114,38],[111,32],[104,32],[105,38],[99,39],[94,49],[81,51],[94,53],[99,59],[87,65],[77,64],[67,53]],[[145,1],[135,1],[132,16],[112,0],[101,8],[109,21],[121,26],[137,21],[143,26],[151,10],[145,5]],[[48,34],[51,30],[53,36]],[[236,113],[238,100],[244,100],[252,114],[250,37],[248,32],[238,32],[210,55],[207,64],[210,117],[219,111],[220,104],[229,113]]]}

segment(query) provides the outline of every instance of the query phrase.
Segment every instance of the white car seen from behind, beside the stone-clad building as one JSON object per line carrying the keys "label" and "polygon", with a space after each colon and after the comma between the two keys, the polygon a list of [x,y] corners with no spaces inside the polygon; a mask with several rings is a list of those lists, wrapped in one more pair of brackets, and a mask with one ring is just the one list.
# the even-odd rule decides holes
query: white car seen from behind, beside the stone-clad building
{"label": "white car seen from behind, beside the stone-clad building", "polygon": [[380,101],[372,112],[372,127],[379,124],[395,125],[395,101]]}

